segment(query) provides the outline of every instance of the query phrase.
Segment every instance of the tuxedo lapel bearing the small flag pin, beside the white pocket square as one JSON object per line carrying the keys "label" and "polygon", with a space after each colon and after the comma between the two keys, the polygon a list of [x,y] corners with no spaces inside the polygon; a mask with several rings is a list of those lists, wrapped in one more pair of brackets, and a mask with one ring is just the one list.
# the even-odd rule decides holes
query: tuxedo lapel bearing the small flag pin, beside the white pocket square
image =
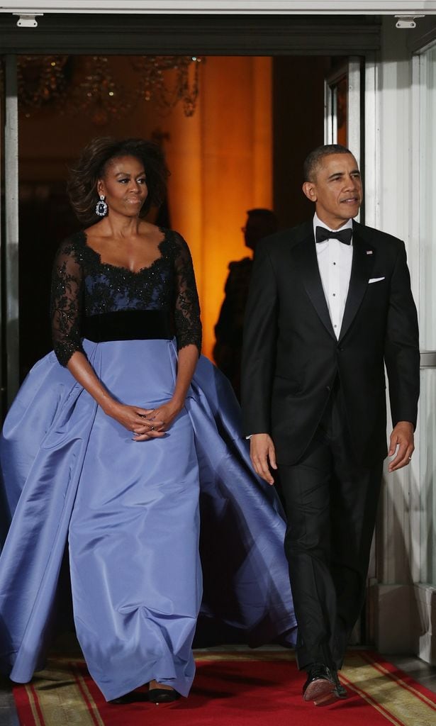
{"label": "tuxedo lapel bearing the small flag pin, beside the white pocket square", "polygon": [[348,287],[344,317],[339,340],[347,333],[355,314],[361,306],[365,295],[371,270],[374,266],[376,250],[368,242],[364,242],[358,229],[353,225],[353,263],[351,265],[350,286]]}

